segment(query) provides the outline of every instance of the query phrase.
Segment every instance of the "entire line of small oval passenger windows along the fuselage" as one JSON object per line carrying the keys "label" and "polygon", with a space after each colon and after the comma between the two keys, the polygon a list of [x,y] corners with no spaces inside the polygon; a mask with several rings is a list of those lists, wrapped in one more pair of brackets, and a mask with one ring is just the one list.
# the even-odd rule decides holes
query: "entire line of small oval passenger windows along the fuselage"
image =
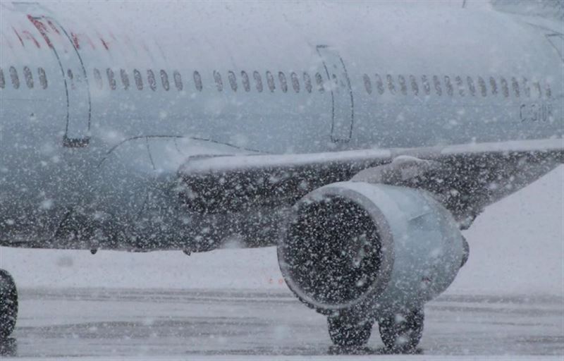
{"label": "entire line of small oval passenger windows along the fuselage", "polygon": [[[104,78],[106,78],[106,82],[111,90],[117,89],[117,78],[121,80],[121,87],[123,87],[124,90],[128,90],[130,86],[133,86],[130,83],[130,76],[128,72],[124,69],[120,69],[119,74],[116,74],[111,68],[106,68],[106,71],[104,73],[105,74],[103,75],[102,71],[94,68],[94,83],[99,89],[104,88]],[[13,87],[15,89],[19,89],[20,77],[18,75],[18,70],[11,66],[8,69],[8,75],[11,79]],[[75,76],[71,69],[67,70],[66,75],[68,80],[71,81],[71,86],[74,86],[75,81],[81,81],[80,76]],[[286,73],[283,73],[282,71],[278,72],[277,76],[271,73],[271,71],[266,71],[264,76],[264,79],[266,80],[266,86],[263,83],[263,77],[261,73],[259,73],[258,71],[253,71],[252,73],[241,71],[239,75],[240,84],[243,86],[243,90],[245,90],[245,92],[250,92],[253,87],[257,90],[257,92],[263,92],[266,87],[270,92],[274,92],[274,90],[276,90],[276,87],[279,87],[282,92],[288,92],[290,85],[293,91],[296,93],[300,92],[302,85],[303,89],[308,93],[311,93],[314,90],[314,87],[319,92],[325,91],[324,78],[320,73],[315,73],[314,79],[312,80],[312,78],[306,72],[302,73],[301,77],[300,75],[298,75],[298,73],[292,72],[290,73],[288,81]],[[34,76],[32,70],[27,66],[23,67],[23,78],[25,80],[25,85],[27,85],[28,88],[32,89],[35,85]],[[43,68],[37,68],[37,78],[39,78],[39,85],[41,85],[43,89],[47,89],[47,75],[45,74]],[[202,76],[198,71],[194,71],[192,73],[192,78],[194,81],[195,90],[201,92],[203,89]],[[233,92],[237,92],[240,89],[238,75],[233,71],[228,71],[227,79],[231,90],[233,90]],[[336,81],[334,75],[333,80]],[[438,75],[433,75],[432,77],[422,75],[421,78],[418,79],[414,75],[409,75],[409,77],[407,78],[404,75],[398,75],[396,78],[390,74],[385,76],[375,74],[373,85],[372,78],[370,78],[369,75],[364,74],[363,80],[364,89],[368,94],[372,94],[375,88],[375,90],[380,95],[384,94],[386,90],[390,94],[401,93],[403,95],[407,95],[408,88],[410,88],[410,92],[412,92],[412,94],[414,95],[430,95],[432,87],[434,94],[439,96],[447,94],[452,97],[455,92],[460,94],[461,97],[464,97],[466,94],[476,96],[476,94],[479,92],[482,97],[487,97],[488,94],[496,95],[498,93],[503,94],[504,97],[509,97],[510,94],[515,97],[520,97],[523,94],[523,96],[525,97],[537,96],[540,98],[543,96],[543,93],[545,97],[551,97],[551,88],[548,84],[546,84],[544,90],[542,90],[539,82],[532,82],[531,84],[529,84],[527,78],[517,80],[517,78],[512,77],[509,80],[506,80],[505,78],[501,77],[499,78],[499,80],[497,80],[494,77],[489,77],[487,80],[484,80],[484,78],[479,76],[474,82],[474,78],[470,76],[466,77],[465,79],[460,76],[455,76],[455,78],[451,80],[450,76],[448,75],[444,75],[443,77],[439,77]],[[171,89],[171,82],[173,82],[176,90],[181,91],[184,89],[183,79],[178,71],[173,71],[172,77],[171,79],[169,79],[168,73],[163,69],[158,72],[152,71],[152,69],[148,69],[145,72],[145,76],[143,76],[141,71],[134,69],[133,82],[135,82],[135,87],[137,87],[137,90],[143,90],[144,87],[148,86],[149,89],[155,91],[157,90],[157,87],[161,86],[162,89],[168,91]],[[223,91],[223,78],[219,71],[214,71],[214,82],[216,89],[219,92]],[[4,71],[2,70],[2,68],[0,68],[0,88],[4,88],[5,86],[6,78],[4,77]]]}

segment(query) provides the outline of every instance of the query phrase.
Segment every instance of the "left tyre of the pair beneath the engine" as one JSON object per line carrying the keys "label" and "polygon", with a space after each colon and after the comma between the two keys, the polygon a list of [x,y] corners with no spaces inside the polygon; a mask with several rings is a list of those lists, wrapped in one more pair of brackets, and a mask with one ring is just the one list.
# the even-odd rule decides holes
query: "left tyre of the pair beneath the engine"
{"label": "left tyre of the pair beneath the engine", "polygon": [[365,345],[372,333],[372,322],[358,321],[356,317],[339,314],[327,317],[329,336],[339,347],[360,347]]}

